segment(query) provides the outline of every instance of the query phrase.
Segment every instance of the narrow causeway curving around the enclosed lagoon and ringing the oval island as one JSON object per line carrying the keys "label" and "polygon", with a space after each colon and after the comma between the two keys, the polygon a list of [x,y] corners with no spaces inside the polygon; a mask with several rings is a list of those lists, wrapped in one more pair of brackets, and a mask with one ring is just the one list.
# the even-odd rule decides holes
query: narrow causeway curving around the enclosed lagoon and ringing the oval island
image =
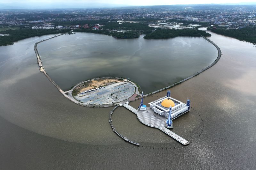
{"label": "narrow causeway curving around the enclosed lagoon and ringing the oval island", "polygon": [[[67,33],[68,33],[68,32],[67,32]],[[83,83],[83,82],[89,81],[89,80],[79,82],[79,83],[77,83],[76,85],[74,85],[70,90],[64,92],[64,91],[60,88],[60,86],[57,85],[57,84],[52,80],[52,78],[50,78],[50,76],[46,73],[46,71],[44,70],[44,67],[43,67],[43,64],[42,64],[43,62],[41,61],[39,52],[38,52],[38,50],[37,50],[37,44],[39,44],[39,43],[41,43],[41,42],[44,42],[44,41],[47,41],[47,40],[50,40],[50,39],[52,39],[52,38],[58,37],[58,36],[60,36],[60,35],[64,35],[64,34],[66,34],[66,33],[62,33],[62,34],[59,34],[59,35],[55,35],[55,36],[50,37],[50,38],[48,38],[48,39],[45,39],[45,40],[36,42],[35,45],[34,45],[34,50],[35,50],[35,53],[36,53],[36,58],[37,58],[37,63],[38,63],[38,66],[39,66],[39,70],[44,73],[44,75],[52,82],[52,84],[60,91],[60,93],[61,93],[64,97],[66,97],[68,100],[70,100],[70,101],[72,101],[72,102],[74,102],[74,103],[76,103],[76,104],[78,104],[78,105],[80,105],[80,106],[84,106],[84,107],[98,107],[98,108],[99,108],[99,107],[114,107],[114,106],[116,106],[117,104],[122,103],[122,102],[125,102],[125,101],[131,102],[131,101],[135,101],[135,100],[141,99],[141,97],[135,98],[135,99],[133,99],[133,100],[126,99],[126,100],[124,100],[124,101],[122,101],[122,102],[115,103],[114,106],[113,106],[112,104],[111,104],[111,105],[90,105],[90,104],[84,105],[83,103],[81,103],[80,101],[76,100],[76,99],[72,96],[72,90],[73,90],[77,85],[79,85],[79,84],[81,84],[81,83]],[[218,50],[218,57],[217,57],[217,59],[216,59],[212,64],[210,64],[209,66],[207,66],[207,67],[205,67],[204,69],[202,69],[202,70],[200,70],[200,71],[194,73],[192,76],[190,76],[190,77],[188,77],[188,78],[185,78],[185,79],[183,79],[183,80],[180,80],[180,81],[177,82],[177,83],[174,83],[174,84],[172,84],[172,85],[169,85],[169,86],[167,86],[167,87],[164,87],[164,88],[162,88],[162,89],[160,89],[160,90],[157,90],[157,91],[155,91],[155,92],[151,92],[151,93],[148,93],[148,94],[144,94],[144,97],[150,96],[150,95],[155,94],[155,93],[157,93],[157,92],[161,92],[161,91],[167,90],[167,89],[169,89],[169,88],[171,88],[171,87],[174,87],[175,85],[179,85],[180,83],[185,82],[186,80],[189,80],[190,78],[193,78],[193,77],[197,76],[198,74],[202,73],[203,71],[205,71],[205,70],[211,68],[214,64],[216,64],[216,63],[220,60],[220,57],[221,57],[221,50],[220,50],[220,48],[219,48],[214,42],[212,42],[211,40],[209,40],[208,38],[206,38],[206,37],[204,37],[204,36],[201,36],[201,37],[203,37],[205,40],[207,40],[207,41],[210,42],[212,45],[214,45],[215,48],[217,48],[217,50]],[[111,77],[103,77],[103,78],[111,78]],[[112,78],[113,78],[113,77],[112,77]],[[99,78],[93,78],[93,79],[99,79]],[[93,80],[93,79],[90,79],[90,80]],[[127,80],[127,79],[126,79],[126,80]],[[127,81],[129,81],[129,80],[127,80]],[[129,82],[132,83],[135,87],[137,87],[134,94],[138,94],[138,95],[141,96],[141,94],[140,94],[139,91],[138,91],[138,90],[139,90],[138,86],[137,86],[134,82],[132,82],[132,81],[129,81]],[[71,96],[70,96],[69,92],[71,92]],[[66,94],[66,93],[68,93],[68,94]],[[130,98],[131,98],[131,97],[130,97]]]}

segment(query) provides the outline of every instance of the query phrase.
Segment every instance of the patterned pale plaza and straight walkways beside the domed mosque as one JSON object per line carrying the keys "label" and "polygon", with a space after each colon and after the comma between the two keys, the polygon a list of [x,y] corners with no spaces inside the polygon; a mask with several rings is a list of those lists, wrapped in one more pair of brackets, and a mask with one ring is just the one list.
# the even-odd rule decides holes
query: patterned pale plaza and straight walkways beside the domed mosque
{"label": "patterned pale plaza and straight walkways beside the domed mosque", "polygon": [[[136,114],[137,118],[139,119],[139,121],[141,123],[143,123],[147,126],[153,127],[153,128],[160,129],[161,131],[163,131],[164,133],[166,133],[167,135],[169,135],[170,137],[177,140],[178,142],[180,142],[183,145],[189,144],[189,142],[187,140],[185,140],[184,138],[180,137],[179,135],[173,133],[171,130],[164,127],[166,118],[163,118],[154,113],[150,113],[147,110],[137,110],[128,104],[124,104],[123,106],[125,108],[127,108],[128,110],[132,111],[134,114]],[[147,109],[150,110],[150,108],[147,108]]]}

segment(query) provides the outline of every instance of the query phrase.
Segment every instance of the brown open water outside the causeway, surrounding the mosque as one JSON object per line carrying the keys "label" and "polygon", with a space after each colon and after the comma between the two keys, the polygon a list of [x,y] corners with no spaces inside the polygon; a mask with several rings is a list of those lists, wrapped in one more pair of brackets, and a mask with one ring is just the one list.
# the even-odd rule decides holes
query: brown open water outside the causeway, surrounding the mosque
{"label": "brown open water outside the causeway, surrounding the mosque", "polygon": [[[181,147],[118,108],[113,124],[139,142],[137,147],[112,132],[108,122],[112,108],[78,106],[38,71],[33,44],[46,37],[0,47],[2,169],[256,168],[256,48],[252,44],[212,33],[210,39],[223,54],[220,61],[171,89],[172,97],[183,102],[189,97],[195,109],[173,122],[173,131],[191,142],[188,146]],[[147,97],[145,102],[165,94]]]}

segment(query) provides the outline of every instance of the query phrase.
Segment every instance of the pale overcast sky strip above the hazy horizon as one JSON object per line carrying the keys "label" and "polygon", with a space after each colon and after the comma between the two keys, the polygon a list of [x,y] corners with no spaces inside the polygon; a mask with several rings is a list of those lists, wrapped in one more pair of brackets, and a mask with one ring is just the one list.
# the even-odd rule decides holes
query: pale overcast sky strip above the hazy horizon
{"label": "pale overcast sky strip above the hazy horizon", "polygon": [[256,2],[255,0],[0,0],[0,3],[102,3],[102,4],[125,4],[125,5],[172,5],[172,4],[223,4]]}

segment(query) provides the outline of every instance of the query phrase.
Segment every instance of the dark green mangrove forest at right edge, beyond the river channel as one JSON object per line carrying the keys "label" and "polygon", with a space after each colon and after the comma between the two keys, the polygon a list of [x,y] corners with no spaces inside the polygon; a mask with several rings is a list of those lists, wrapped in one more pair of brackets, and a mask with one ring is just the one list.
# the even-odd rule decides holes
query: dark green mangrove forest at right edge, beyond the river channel
{"label": "dark green mangrove forest at right edge, beyond the river channel", "polygon": [[[214,26],[213,26],[214,27]],[[256,44],[256,26],[246,26],[241,29],[228,29],[225,28],[213,28],[208,27],[207,30],[213,33],[218,33],[221,35],[226,35],[229,37],[236,38],[240,41],[247,41]]]}

